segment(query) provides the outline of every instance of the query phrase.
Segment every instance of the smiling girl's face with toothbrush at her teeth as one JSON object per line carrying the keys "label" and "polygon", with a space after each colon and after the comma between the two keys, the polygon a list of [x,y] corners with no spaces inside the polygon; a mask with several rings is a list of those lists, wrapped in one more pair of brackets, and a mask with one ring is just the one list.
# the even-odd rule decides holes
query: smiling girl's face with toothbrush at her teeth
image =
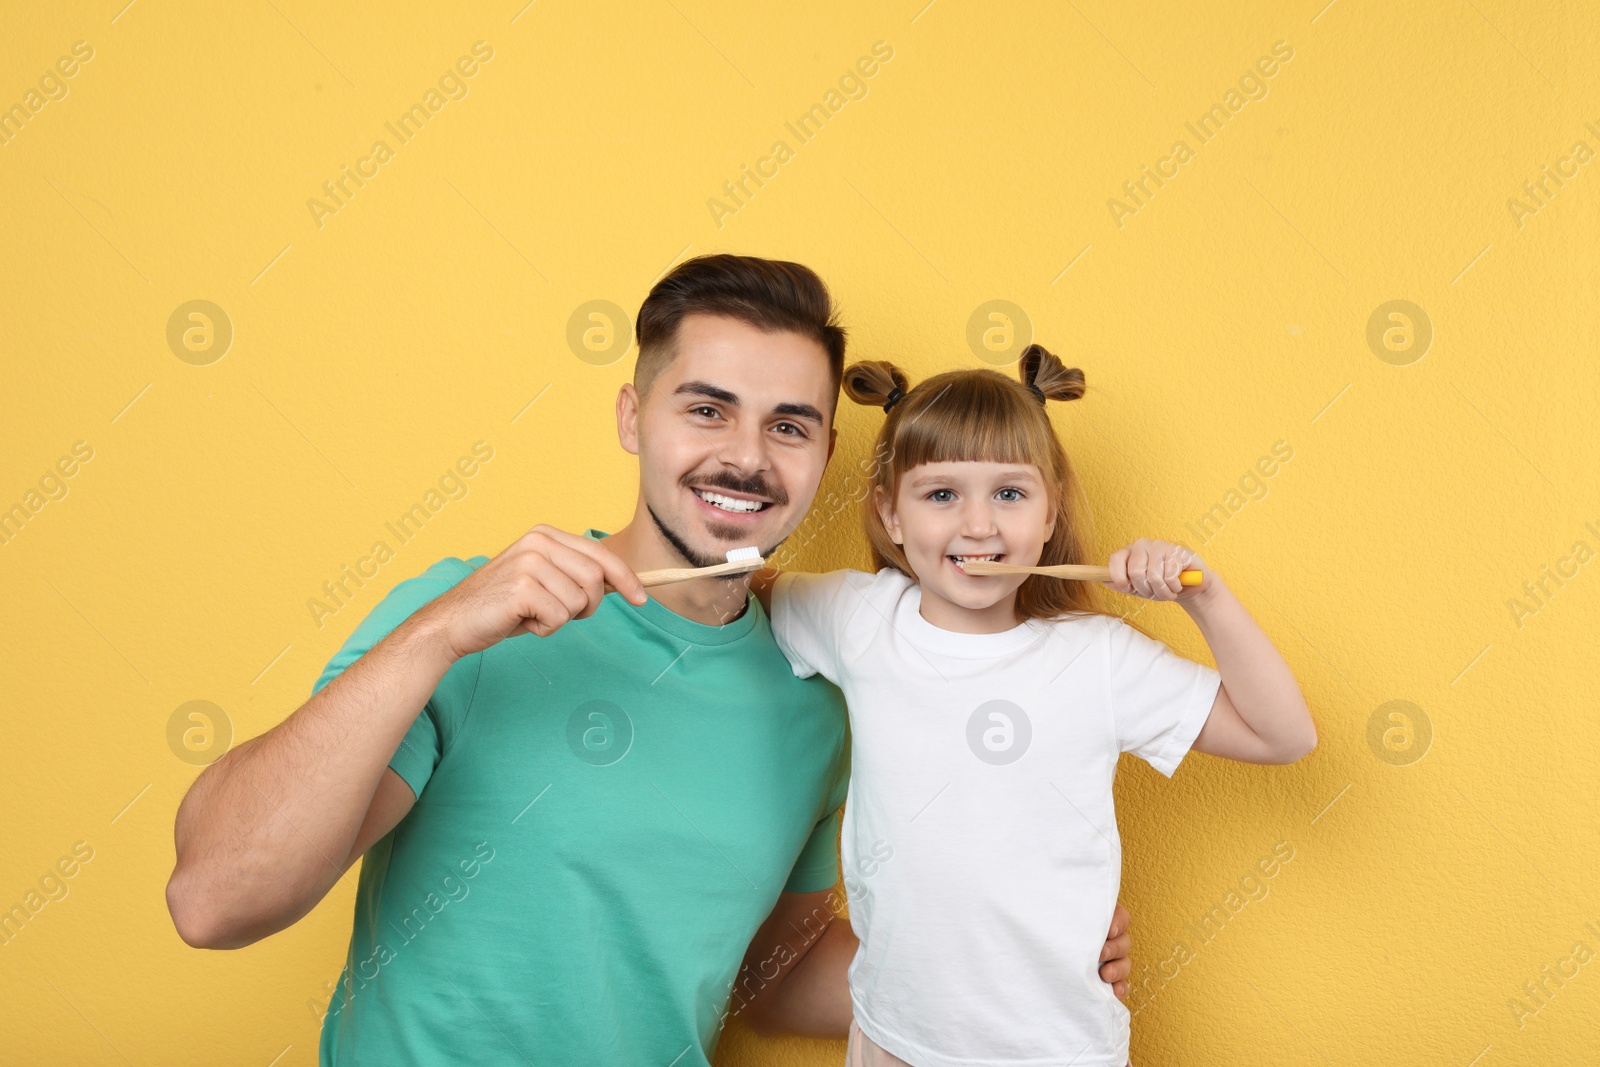
{"label": "smiling girl's face with toothbrush at her teeth", "polygon": [[922,616],[963,633],[1016,625],[1026,574],[979,577],[965,560],[1032,566],[1056,526],[1045,477],[1034,464],[930,462],[907,470],[878,515],[922,585]]}

